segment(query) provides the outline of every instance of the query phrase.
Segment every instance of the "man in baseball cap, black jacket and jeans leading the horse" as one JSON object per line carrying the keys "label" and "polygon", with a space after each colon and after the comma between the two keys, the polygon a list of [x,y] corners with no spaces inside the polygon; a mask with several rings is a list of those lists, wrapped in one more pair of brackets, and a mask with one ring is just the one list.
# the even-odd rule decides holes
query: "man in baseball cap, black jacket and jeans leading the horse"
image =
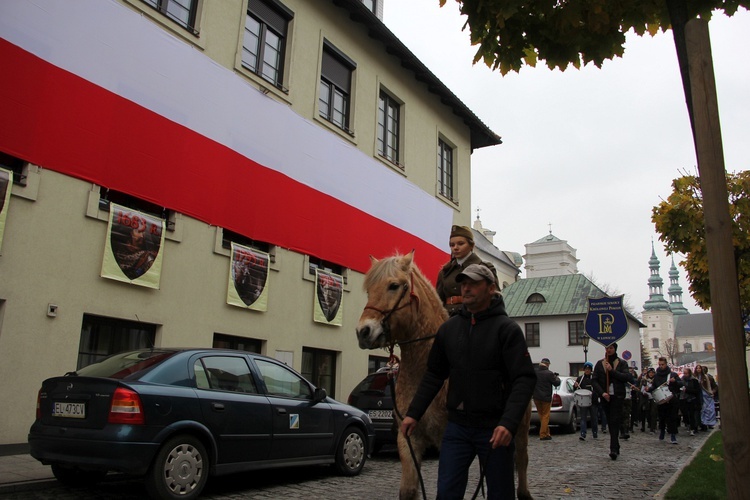
{"label": "man in baseball cap, black jacket and jeans leading the horse", "polygon": [[487,498],[515,498],[514,436],[536,384],[526,338],[505,312],[495,276],[471,264],[456,276],[461,310],[443,323],[401,432],[410,436],[450,377],[438,464],[437,498],[463,498],[479,456]]}

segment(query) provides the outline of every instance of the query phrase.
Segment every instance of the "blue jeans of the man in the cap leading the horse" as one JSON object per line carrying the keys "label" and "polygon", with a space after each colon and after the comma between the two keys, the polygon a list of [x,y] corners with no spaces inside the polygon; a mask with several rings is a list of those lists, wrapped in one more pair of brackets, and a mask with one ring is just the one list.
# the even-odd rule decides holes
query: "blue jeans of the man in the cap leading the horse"
{"label": "blue jeans of the man in the cap leading the horse", "polygon": [[[464,498],[469,481],[469,467],[475,456],[487,481],[487,498],[515,498],[513,454],[515,442],[492,449],[493,429],[476,429],[448,422],[440,447],[438,464],[438,500]],[[473,492],[472,492],[473,494]]]}

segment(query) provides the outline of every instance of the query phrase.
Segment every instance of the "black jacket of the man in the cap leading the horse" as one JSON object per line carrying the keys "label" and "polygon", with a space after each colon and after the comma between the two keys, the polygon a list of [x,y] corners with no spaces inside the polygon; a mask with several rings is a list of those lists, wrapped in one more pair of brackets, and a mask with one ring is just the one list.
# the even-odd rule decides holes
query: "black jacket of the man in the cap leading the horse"
{"label": "black jacket of the man in the cap leading the horse", "polygon": [[505,312],[502,296],[477,314],[463,308],[438,329],[406,415],[419,420],[448,377],[449,421],[477,428],[502,425],[516,433],[536,375],[523,332]]}

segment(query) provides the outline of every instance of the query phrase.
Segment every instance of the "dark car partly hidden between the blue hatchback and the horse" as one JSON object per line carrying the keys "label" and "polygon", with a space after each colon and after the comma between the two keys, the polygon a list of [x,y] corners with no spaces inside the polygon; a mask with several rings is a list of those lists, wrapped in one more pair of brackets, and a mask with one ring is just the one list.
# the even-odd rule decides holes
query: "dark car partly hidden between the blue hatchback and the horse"
{"label": "dark car partly hidden between the blue hatchback and the horse", "polygon": [[366,412],[375,427],[375,443],[372,452],[377,453],[386,444],[396,442],[398,429],[393,418],[393,395],[391,394],[391,378],[393,387],[396,383],[398,367],[380,368],[375,373],[366,376],[352,389],[347,403]]}

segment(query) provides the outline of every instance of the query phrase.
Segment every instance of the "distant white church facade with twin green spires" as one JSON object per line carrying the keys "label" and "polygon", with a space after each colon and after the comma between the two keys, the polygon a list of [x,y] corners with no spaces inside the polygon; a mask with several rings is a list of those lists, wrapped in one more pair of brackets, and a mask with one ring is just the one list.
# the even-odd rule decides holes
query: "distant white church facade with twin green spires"
{"label": "distant white church facade with twin green spires", "polygon": [[[648,261],[648,267],[650,269],[648,278],[649,298],[643,304],[643,312],[641,313],[643,323],[646,325],[641,330],[641,342],[649,353],[651,366],[656,366],[660,356],[664,356],[668,360],[676,357],[677,346],[674,338],[674,313],[670,309],[669,302],[664,299],[664,281],[659,275],[660,263],[653,242],[651,242],[651,258]],[[675,271],[677,271],[676,268]],[[681,296],[682,289],[680,289]],[[680,305],[682,305],[681,302]]]}

